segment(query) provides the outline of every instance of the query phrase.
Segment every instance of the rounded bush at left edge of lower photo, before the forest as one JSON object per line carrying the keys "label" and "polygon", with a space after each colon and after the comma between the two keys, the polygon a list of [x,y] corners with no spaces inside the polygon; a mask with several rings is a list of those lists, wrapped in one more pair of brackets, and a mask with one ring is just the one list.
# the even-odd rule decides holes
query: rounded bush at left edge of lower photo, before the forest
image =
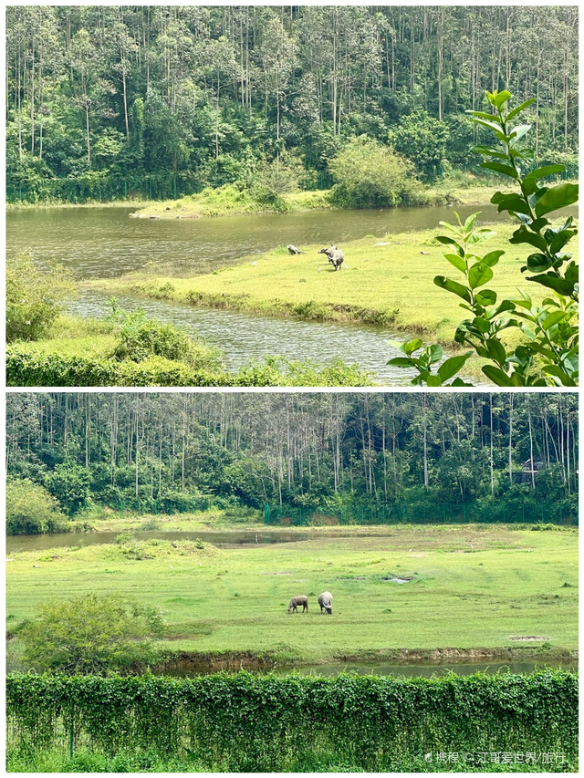
{"label": "rounded bush at left edge of lower photo, before the forest", "polygon": [[57,500],[28,479],[6,482],[6,534],[67,532]]}

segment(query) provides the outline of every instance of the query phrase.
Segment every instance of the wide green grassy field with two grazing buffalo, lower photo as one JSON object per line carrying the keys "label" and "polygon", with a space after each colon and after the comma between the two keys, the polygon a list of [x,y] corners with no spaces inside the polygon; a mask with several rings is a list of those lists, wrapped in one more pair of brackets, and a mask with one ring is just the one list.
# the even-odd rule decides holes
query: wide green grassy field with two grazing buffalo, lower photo
{"label": "wide green grassy field with two grazing buffalo, lower photo", "polygon": [[[247,652],[294,664],[395,658],[401,648],[543,646],[549,656],[578,647],[576,530],[382,531],[222,550],[134,540],[20,552],[6,565],[7,626],[14,630],[39,602],[99,591],[162,607],[163,646],[173,652]],[[334,595],[332,617],[319,613],[325,589]],[[288,615],[299,594],[308,595],[308,614]],[[512,639],[531,637],[542,639]]]}

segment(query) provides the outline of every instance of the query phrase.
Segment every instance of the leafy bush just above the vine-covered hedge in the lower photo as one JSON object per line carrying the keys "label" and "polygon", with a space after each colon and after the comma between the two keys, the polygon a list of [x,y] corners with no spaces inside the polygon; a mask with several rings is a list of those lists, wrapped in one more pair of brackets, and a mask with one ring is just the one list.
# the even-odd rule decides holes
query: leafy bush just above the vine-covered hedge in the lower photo
{"label": "leafy bush just above the vine-covered hedge in the lower photo", "polygon": [[141,671],[154,661],[159,611],[119,596],[83,595],[40,606],[19,631],[23,660],[51,672]]}

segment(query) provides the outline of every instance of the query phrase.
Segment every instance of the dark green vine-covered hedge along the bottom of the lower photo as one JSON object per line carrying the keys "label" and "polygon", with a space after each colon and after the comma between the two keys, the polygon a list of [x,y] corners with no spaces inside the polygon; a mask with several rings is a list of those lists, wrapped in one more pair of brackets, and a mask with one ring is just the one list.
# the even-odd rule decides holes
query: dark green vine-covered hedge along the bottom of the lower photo
{"label": "dark green vine-covered hedge along the bottom of the lower photo", "polygon": [[6,714],[9,749],[147,750],[224,769],[282,771],[298,751],[318,749],[364,771],[390,771],[429,752],[561,752],[574,762],[578,675],[14,674]]}

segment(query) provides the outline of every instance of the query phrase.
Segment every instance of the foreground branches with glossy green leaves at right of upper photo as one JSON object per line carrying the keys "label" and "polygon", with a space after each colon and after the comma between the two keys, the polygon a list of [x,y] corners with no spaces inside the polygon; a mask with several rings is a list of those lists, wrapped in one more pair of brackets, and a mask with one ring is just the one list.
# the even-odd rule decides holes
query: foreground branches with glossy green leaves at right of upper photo
{"label": "foreground branches with glossy green leaves at right of upper photo", "polygon": [[[534,100],[530,99],[515,109],[508,110],[510,92],[487,92],[486,99],[494,113],[467,111],[471,120],[490,130],[499,145],[476,146],[486,161],[481,167],[496,171],[512,179],[518,185],[517,192],[495,192],[491,202],[499,213],[506,211],[519,227],[510,239],[511,244],[529,244],[537,251],[527,257],[527,265],[521,268],[527,281],[550,290],[550,296],[537,305],[531,296],[519,292],[515,300],[497,300],[493,289],[485,285],[493,279],[493,268],[504,250],[477,254],[476,246],[495,235],[485,228],[476,229],[473,213],[464,223],[458,214],[457,225],[441,222],[448,234],[438,235],[436,240],[447,246],[444,258],[464,275],[463,283],[444,275],[437,275],[434,284],[464,301],[461,307],[471,317],[456,328],[454,340],[473,351],[446,359],[442,364],[443,350],[438,345],[423,347],[422,340],[415,339],[393,345],[404,356],[391,359],[389,364],[401,368],[414,368],[417,375],[412,384],[444,386],[454,379],[451,386],[470,386],[454,376],[464,367],[473,353],[487,361],[483,366],[485,376],[497,386],[567,386],[578,385],[578,265],[572,254],[565,251],[569,241],[578,233],[573,216],[566,217],[558,226],[549,218],[568,205],[578,201],[577,184],[558,183],[550,186],[542,180],[566,169],[563,165],[546,165],[524,174],[520,165],[533,159],[533,151],[523,146],[522,140],[530,130],[528,124],[512,127],[510,122]],[[520,343],[510,347],[502,334],[515,328],[521,334]],[[433,366],[438,366],[433,372]]]}

